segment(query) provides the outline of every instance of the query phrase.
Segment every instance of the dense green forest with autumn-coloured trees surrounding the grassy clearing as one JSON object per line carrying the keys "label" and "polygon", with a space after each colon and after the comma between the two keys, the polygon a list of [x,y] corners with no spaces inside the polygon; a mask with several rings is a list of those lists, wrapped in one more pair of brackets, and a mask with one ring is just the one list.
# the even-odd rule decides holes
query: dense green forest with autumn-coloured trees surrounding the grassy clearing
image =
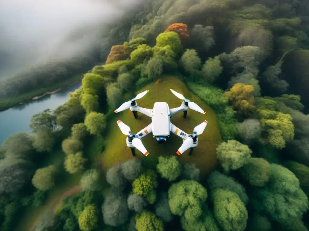
{"label": "dense green forest with autumn-coloured trees surrounding the grassy clearing", "polygon": [[[33,231],[308,230],[308,15],[305,0],[146,1],[108,34],[105,65],[0,146],[0,229],[79,174],[81,190]],[[106,168],[114,110],[167,76],[214,110],[216,169],[202,174],[175,153]]]}

